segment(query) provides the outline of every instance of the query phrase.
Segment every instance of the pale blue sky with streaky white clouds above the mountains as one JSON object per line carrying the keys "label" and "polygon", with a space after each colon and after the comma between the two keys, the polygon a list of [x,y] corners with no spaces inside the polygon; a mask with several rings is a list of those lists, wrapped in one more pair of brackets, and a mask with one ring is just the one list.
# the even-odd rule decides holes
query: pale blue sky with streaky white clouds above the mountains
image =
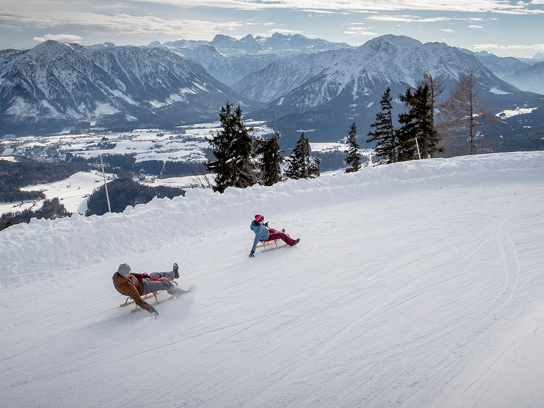
{"label": "pale blue sky with streaky white clouds above the mountains", "polygon": [[359,46],[385,34],[499,57],[544,52],[544,0],[2,0],[0,49],[242,38],[275,32]]}

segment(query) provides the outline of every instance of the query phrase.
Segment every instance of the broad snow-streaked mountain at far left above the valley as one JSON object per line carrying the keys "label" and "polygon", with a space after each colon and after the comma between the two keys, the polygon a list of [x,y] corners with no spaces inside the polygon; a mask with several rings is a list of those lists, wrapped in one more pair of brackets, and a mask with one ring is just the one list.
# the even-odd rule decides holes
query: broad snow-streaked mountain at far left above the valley
{"label": "broad snow-streaked mountain at far left above the valley", "polygon": [[0,55],[4,133],[80,122],[171,125],[215,119],[227,99],[243,102],[200,65],[166,48],[46,41]]}

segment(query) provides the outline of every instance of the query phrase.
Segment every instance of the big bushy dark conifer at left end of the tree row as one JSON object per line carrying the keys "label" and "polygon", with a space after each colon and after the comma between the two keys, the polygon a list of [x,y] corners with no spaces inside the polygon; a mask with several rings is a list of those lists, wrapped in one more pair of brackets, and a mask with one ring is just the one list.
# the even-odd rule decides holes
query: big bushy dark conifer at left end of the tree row
{"label": "big bushy dark conifer at left end of the tree row", "polygon": [[214,191],[223,193],[227,187],[245,188],[255,184],[255,169],[251,164],[252,139],[242,121],[240,106],[221,106],[219,120],[222,129],[211,139],[206,138],[212,148],[215,160],[209,160],[206,167],[215,173]]}

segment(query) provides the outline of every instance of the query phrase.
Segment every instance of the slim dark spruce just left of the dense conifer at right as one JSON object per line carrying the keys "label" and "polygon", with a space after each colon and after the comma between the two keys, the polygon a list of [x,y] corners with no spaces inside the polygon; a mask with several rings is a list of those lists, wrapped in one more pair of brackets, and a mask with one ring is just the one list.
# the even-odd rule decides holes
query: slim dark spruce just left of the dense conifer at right
{"label": "slim dark spruce just left of the dense conifer at right", "polygon": [[398,140],[393,126],[393,106],[391,102],[391,88],[387,88],[380,101],[380,112],[376,114],[376,121],[370,125],[375,131],[367,133],[367,143],[376,143],[374,155],[376,163],[387,164],[398,161]]}

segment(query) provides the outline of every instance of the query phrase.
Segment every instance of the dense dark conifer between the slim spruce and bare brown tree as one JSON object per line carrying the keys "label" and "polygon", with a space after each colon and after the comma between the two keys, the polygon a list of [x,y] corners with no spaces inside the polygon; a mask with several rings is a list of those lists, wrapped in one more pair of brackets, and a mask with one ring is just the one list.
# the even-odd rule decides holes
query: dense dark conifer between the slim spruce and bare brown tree
{"label": "dense dark conifer between the slim spruce and bare brown tree", "polygon": [[429,86],[420,85],[413,93],[408,87],[405,94],[399,94],[399,99],[408,109],[399,114],[399,161],[431,157],[432,153],[440,150],[440,137],[434,127]]}

